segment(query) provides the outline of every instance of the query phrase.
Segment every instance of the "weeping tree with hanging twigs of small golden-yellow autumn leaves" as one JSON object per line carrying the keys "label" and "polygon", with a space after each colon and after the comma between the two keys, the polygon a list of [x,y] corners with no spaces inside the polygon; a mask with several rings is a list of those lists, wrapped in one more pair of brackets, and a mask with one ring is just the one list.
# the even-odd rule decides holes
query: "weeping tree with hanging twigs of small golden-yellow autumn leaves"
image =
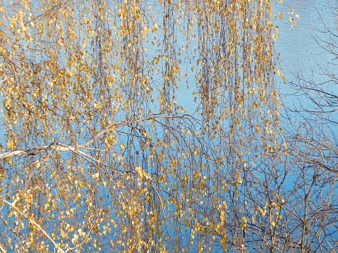
{"label": "weeping tree with hanging twigs of small golden-yellow autumn leaves", "polygon": [[0,250],[305,249],[272,4],[4,1]]}

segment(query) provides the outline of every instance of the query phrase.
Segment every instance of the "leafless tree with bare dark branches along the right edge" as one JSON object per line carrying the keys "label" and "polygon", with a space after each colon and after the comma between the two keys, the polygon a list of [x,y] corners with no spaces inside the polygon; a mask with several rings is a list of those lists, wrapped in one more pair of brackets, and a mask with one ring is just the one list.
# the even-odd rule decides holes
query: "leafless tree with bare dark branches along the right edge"
{"label": "leafless tree with bare dark branches along the right edge", "polygon": [[[292,96],[298,106],[285,105],[283,119],[290,128],[284,129],[289,144],[289,163],[298,175],[291,184],[293,189],[288,213],[289,240],[299,252],[337,251],[337,73],[334,69],[337,59],[337,9],[332,13],[330,23],[325,23],[318,12],[322,27],[313,33],[318,42],[318,54],[313,59],[315,68],[311,75],[295,71],[293,80],[288,80]],[[332,15],[331,15],[332,14]],[[333,28],[331,24],[336,25]],[[318,61],[332,59],[326,63]],[[296,116],[296,117],[295,117]],[[295,240],[296,239],[296,240]],[[301,249],[301,250],[299,250]]]}

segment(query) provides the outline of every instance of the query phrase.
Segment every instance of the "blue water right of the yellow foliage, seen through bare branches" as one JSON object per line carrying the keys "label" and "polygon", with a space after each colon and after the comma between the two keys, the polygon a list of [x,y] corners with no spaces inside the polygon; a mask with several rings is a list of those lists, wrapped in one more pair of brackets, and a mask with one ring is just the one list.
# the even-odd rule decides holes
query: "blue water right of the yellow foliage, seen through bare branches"
{"label": "blue water right of the yellow foliage, seen through bare branches", "polygon": [[[294,8],[294,14],[299,16],[299,19],[296,16],[295,18],[296,27],[291,28],[289,17],[287,16],[287,11],[291,12],[292,6]],[[284,20],[275,20],[275,24],[279,26],[279,39],[275,43],[275,49],[279,53],[279,65],[282,67],[286,83],[283,83],[282,80],[277,78],[277,87],[279,87],[280,97],[284,103],[281,110],[282,118],[282,128],[284,132],[288,132],[291,135],[295,134],[295,130],[300,130],[301,134],[306,135],[306,130],[313,131],[315,130],[316,134],[308,134],[309,138],[313,138],[313,142],[318,143],[318,149],[311,149],[310,156],[329,156],[329,151],[325,151],[320,147],[320,142],[325,140],[325,138],[337,143],[335,140],[338,134],[338,128],[335,122],[338,122],[338,113],[308,113],[306,111],[318,111],[318,106],[316,106],[313,101],[308,97],[304,96],[302,92],[297,90],[293,84],[301,84],[303,82],[298,82],[298,78],[304,78],[313,83],[321,83],[327,81],[327,75],[325,73],[327,70],[332,71],[332,73],[338,73],[338,68],[334,65],[335,58],[332,54],[329,54],[326,49],[327,45],[325,40],[334,37],[330,35],[330,32],[327,30],[332,30],[337,35],[337,27],[334,23],[334,11],[332,10],[337,7],[337,1],[300,1],[300,0],[285,0],[282,7],[277,11],[282,11],[284,13]],[[337,8],[336,10],[337,11]],[[322,41],[323,40],[323,41]],[[337,39],[333,44],[337,45]],[[332,94],[338,94],[337,84],[333,82],[323,85],[323,90]],[[315,92],[309,93],[311,96],[315,96]],[[325,97],[318,97],[318,101],[324,102]],[[337,101],[335,102],[337,103]],[[336,104],[337,105],[337,104]],[[286,115],[285,107],[291,109]],[[331,110],[332,107],[325,108]],[[296,112],[292,112],[296,111]],[[320,151],[319,151],[320,150]],[[320,154],[322,152],[322,154]],[[327,152],[327,153],[325,153]],[[316,158],[316,159],[317,159]],[[329,163],[329,159],[323,158],[323,164]],[[293,164],[291,162],[291,164]],[[318,166],[302,168],[302,166],[308,166],[306,163],[300,163],[298,167],[300,170],[304,170],[305,173],[301,175],[299,171],[296,171],[296,174],[289,174],[286,178],[286,188],[294,187],[297,183],[303,182],[312,182],[314,175],[318,173]],[[295,166],[297,169],[297,166]],[[321,170],[320,168],[319,170]],[[323,177],[322,180],[318,180],[318,185],[312,185],[308,183],[306,187],[311,188],[312,192],[309,196],[312,203],[312,211],[315,214],[316,212],[320,213],[320,204],[324,201],[323,199],[327,198],[327,191],[330,190],[329,186],[325,182],[330,182],[331,178]],[[322,184],[322,185],[321,185]],[[306,192],[306,187],[303,189],[299,188],[291,195],[289,201],[298,202],[304,192]],[[334,197],[332,197],[329,202],[332,201],[332,206],[336,206],[337,199],[337,185],[332,184],[332,192]],[[320,203],[321,202],[321,203]],[[297,205],[296,205],[297,206]],[[301,214],[302,210],[294,209],[294,212]],[[332,226],[330,226],[332,225]],[[318,229],[314,225],[311,229]],[[332,231],[336,231],[334,223],[328,224],[325,228],[325,233],[330,234]],[[292,227],[290,226],[291,230]],[[312,240],[312,237],[309,237],[308,240]],[[337,232],[332,234],[330,237],[332,242],[337,241]],[[316,252],[315,246],[313,249]]]}

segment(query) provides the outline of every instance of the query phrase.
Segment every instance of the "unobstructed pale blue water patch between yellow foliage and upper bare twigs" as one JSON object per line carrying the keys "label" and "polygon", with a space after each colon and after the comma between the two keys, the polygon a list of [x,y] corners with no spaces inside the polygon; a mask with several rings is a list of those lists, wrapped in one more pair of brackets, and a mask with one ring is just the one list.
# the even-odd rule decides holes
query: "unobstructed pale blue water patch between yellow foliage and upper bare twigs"
{"label": "unobstructed pale blue water patch between yellow foliage and upper bare twigs", "polygon": [[[323,80],[319,66],[331,68],[334,66],[327,63],[332,60],[332,55],[320,48],[316,39],[325,39],[325,25],[332,30],[337,31],[334,23],[334,16],[330,6],[336,7],[337,1],[291,1],[285,0],[276,11],[284,13],[284,20],[277,18],[276,24],[279,27],[279,38],[275,43],[279,56],[279,64],[282,66],[286,82],[296,82],[297,75],[303,73],[309,80]],[[291,28],[287,12],[299,16],[295,18],[296,27]],[[324,25],[325,24],[325,25]],[[314,70],[314,71],[313,71]],[[336,67],[337,72],[337,67]],[[300,104],[306,106],[309,101],[304,97],[295,97],[294,90],[286,83],[283,84],[277,80],[277,86],[281,92],[281,97],[287,106],[298,107]]]}

